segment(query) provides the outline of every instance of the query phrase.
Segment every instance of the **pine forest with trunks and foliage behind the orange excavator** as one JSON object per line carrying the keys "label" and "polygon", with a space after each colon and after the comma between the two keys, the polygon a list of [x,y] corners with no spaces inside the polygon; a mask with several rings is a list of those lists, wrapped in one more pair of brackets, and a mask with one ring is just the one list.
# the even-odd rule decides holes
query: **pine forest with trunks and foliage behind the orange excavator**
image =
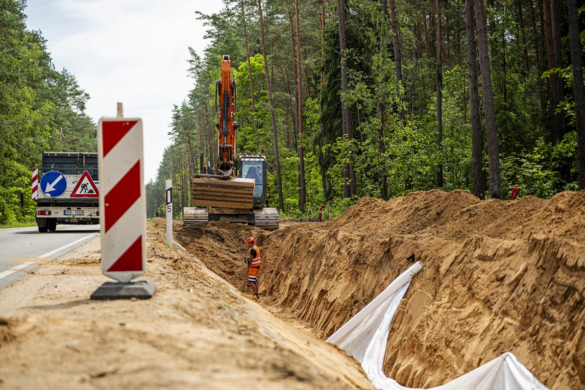
{"label": "pine forest with trunks and foliage behind the orange excavator", "polygon": [[433,188],[481,199],[584,188],[584,10],[575,0],[248,0],[197,12],[210,43],[202,56],[190,49],[193,87],[147,185],[149,216],[162,215],[167,178],[180,216],[201,155],[215,161],[224,54],[238,153],[265,150],[267,203],[284,218]]}

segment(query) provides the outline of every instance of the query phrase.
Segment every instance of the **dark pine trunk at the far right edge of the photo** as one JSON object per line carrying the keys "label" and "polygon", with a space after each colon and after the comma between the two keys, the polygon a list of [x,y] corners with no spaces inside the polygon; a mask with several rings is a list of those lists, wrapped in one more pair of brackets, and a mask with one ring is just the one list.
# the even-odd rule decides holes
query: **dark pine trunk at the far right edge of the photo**
{"label": "dark pine trunk at the far right edge of the photo", "polygon": [[577,128],[577,159],[579,160],[579,188],[585,189],[585,93],[583,92],[583,63],[581,61],[579,17],[577,0],[568,0],[571,64],[573,65],[573,94]]}

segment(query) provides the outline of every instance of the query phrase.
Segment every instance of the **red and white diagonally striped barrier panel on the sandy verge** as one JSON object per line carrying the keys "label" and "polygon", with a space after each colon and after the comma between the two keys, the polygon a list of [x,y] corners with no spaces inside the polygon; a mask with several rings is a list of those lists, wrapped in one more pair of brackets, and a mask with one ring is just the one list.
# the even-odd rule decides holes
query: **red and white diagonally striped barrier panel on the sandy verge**
{"label": "red and white diagonally striped barrier panel on the sandy verge", "polygon": [[[121,109],[120,109],[121,111]],[[121,282],[146,272],[146,194],[142,120],[102,118],[98,125],[102,271]]]}

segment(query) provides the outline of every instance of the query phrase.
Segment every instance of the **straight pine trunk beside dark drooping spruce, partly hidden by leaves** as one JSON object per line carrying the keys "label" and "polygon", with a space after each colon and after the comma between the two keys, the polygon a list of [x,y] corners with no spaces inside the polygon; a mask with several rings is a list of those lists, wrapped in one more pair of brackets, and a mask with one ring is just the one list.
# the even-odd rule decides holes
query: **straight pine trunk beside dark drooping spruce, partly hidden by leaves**
{"label": "straight pine trunk beside dark drooping spruce, partly hidden by leaves", "polygon": [[[345,38],[345,0],[337,0],[337,19],[339,28],[339,51],[341,65],[341,93],[345,94],[348,88]],[[341,101],[342,133],[346,141],[352,140],[352,124],[349,119],[349,106]],[[343,153],[343,197],[350,198],[356,195],[356,181],[352,167],[353,157],[349,152]]]}

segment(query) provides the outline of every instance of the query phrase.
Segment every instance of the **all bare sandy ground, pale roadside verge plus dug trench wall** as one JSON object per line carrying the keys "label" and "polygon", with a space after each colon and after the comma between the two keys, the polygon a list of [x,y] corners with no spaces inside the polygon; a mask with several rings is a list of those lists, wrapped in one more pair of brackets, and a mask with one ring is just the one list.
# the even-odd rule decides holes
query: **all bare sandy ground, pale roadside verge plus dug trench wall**
{"label": "all bare sandy ground, pale roadside verge plus dug trench wall", "polygon": [[[510,351],[551,389],[585,389],[585,192],[480,201],[363,198],[267,232],[149,226],[146,301],[90,301],[99,238],[0,290],[0,388],[371,388],[324,340],[415,261],[384,372],[428,388]],[[260,301],[242,292],[245,239]]]}

